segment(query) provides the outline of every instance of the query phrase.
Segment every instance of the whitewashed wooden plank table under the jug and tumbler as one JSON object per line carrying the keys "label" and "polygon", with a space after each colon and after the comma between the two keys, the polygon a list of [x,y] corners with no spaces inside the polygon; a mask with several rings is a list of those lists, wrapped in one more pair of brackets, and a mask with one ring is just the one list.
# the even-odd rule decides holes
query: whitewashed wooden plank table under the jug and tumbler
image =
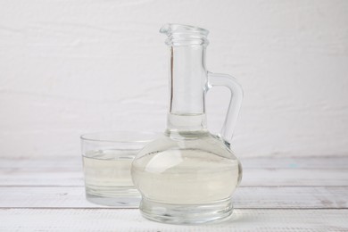
{"label": "whitewashed wooden plank table under the jug and tumbler", "polygon": [[231,220],[176,226],[88,203],[80,157],[0,158],[0,231],[348,231],[348,156],[241,162]]}

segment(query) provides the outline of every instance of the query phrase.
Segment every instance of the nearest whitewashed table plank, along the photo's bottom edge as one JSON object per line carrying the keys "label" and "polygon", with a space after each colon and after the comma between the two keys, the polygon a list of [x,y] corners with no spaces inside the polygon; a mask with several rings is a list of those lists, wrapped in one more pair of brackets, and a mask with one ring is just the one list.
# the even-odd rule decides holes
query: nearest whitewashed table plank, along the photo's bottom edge
{"label": "nearest whitewashed table plank, along the photo's bottom edge", "polygon": [[1,231],[348,231],[348,210],[235,210],[220,224],[178,226],[145,220],[137,210],[0,210]]}

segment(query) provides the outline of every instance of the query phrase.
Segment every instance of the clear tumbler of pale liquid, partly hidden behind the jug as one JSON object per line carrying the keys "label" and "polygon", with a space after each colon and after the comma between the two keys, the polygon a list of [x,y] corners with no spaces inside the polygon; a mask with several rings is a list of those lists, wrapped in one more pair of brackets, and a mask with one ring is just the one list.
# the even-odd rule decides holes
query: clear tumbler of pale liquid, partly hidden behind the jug
{"label": "clear tumbler of pale liquid, partly hidden behind the jug", "polygon": [[153,133],[138,131],[82,135],[87,200],[109,206],[137,208],[141,196],[133,185],[130,167],[137,153],[153,137]]}

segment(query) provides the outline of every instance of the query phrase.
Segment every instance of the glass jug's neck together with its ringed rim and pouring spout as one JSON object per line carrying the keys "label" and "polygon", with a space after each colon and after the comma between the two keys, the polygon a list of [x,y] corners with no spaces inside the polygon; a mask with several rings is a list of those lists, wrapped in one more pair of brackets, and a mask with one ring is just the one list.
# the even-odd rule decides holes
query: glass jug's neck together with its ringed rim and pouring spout
{"label": "glass jug's neck together with its ringed rim and pouring spout", "polygon": [[207,86],[205,47],[206,29],[166,24],[160,32],[167,35],[170,47],[169,131],[205,130],[204,97]]}

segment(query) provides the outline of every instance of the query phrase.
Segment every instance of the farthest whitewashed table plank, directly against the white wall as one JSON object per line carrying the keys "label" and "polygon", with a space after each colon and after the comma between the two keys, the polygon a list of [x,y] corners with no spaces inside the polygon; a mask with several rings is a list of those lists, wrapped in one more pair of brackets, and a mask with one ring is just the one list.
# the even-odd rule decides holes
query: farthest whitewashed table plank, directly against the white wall
{"label": "farthest whitewashed table plank, directly against the white wall", "polygon": [[[240,158],[244,169],[347,169],[348,167],[348,154],[346,156],[324,157]],[[80,170],[82,161],[79,155],[0,159],[0,169],[37,170],[40,168]]]}

